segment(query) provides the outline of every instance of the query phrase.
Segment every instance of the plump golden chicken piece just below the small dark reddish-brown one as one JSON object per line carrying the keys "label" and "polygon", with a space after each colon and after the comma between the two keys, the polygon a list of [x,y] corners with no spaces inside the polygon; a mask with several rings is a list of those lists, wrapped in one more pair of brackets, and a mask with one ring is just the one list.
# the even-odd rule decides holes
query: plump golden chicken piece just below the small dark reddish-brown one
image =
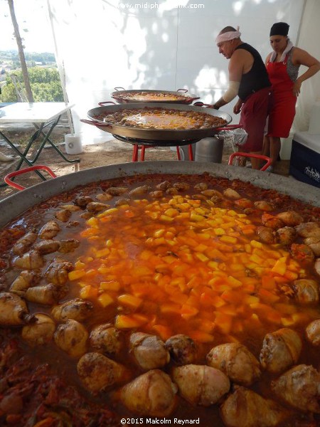
{"label": "plump golden chicken piece just below the small dark reddish-brown one", "polygon": [[172,379],[178,386],[179,394],[192,405],[214,405],[230,389],[228,376],[206,365],[174,367]]}

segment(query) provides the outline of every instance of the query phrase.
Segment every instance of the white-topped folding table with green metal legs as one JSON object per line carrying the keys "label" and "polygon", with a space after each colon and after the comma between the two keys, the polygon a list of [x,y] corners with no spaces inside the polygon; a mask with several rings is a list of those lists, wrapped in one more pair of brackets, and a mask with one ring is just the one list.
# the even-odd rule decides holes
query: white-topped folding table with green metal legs
{"label": "white-topped folding table with green metal legs", "polygon": [[[79,163],[80,159],[67,159],[63,152],[50,140],[50,135],[58,122],[61,115],[64,112],[70,110],[73,104],[67,104],[65,102],[16,102],[12,105],[7,105],[0,108],[0,136],[10,145],[14,152],[18,154],[20,160],[16,166],[16,171],[21,168],[23,162],[32,166],[36,162],[39,155],[41,154],[43,147],[48,143],[58,154],[68,163]],[[26,148],[22,151],[16,147],[16,144],[11,142],[8,136],[4,135],[4,129],[1,129],[1,125],[4,124],[27,124],[31,123],[35,127],[35,131],[32,133]],[[41,139],[40,147],[38,148],[35,157],[28,159],[28,152],[36,140]],[[41,172],[36,173],[46,181],[46,178]],[[7,184],[0,184],[0,186],[6,186]]]}

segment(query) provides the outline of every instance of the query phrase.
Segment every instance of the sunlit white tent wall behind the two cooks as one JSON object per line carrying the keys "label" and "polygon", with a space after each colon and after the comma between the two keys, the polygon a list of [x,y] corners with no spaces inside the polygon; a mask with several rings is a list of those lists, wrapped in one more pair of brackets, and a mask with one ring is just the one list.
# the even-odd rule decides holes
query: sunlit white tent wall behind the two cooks
{"label": "sunlit white tent wall behind the two cooks", "polygon": [[[69,101],[75,103],[75,132],[82,132],[85,144],[111,137],[82,124],[80,118],[98,102],[111,100],[116,86],[186,88],[203,102],[218,100],[228,87],[228,60],[218,53],[215,37],[228,25],[240,26],[242,41],[252,44],[265,59],[270,52],[270,26],[286,21],[293,43],[299,35],[299,46],[305,44],[317,56],[313,49],[319,49],[319,43],[317,46],[315,37],[309,48],[310,28],[302,21],[302,12],[316,23],[319,11],[314,11],[319,4],[318,0],[158,0],[139,4],[136,0],[132,4],[123,0],[48,0],[59,70]],[[318,31],[315,24],[314,31]],[[312,85],[314,91],[306,90],[301,102],[299,99],[299,109],[320,95],[320,85]],[[233,115],[234,103],[223,110]],[[233,119],[238,122],[238,116]]]}

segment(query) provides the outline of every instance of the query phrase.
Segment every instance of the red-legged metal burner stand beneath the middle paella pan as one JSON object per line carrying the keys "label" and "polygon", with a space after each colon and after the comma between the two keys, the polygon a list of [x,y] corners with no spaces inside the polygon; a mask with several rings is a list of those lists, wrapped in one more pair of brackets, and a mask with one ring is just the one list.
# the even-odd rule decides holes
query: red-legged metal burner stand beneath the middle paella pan
{"label": "red-legged metal burner stand beneath the middle paella pan", "polygon": [[148,147],[176,147],[176,155],[178,157],[178,160],[181,160],[180,157],[180,150],[179,147],[181,145],[188,145],[188,153],[189,153],[189,160],[193,160],[193,151],[192,151],[192,145],[195,142],[200,141],[201,138],[198,139],[182,139],[181,141],[155,141],[154,139],[137,139],[137,138],[131,138],[131,137],[122,137],[120,135],[114,135],[112,136],[116,139],[119,139],[119,141],[122,142],[129,142],[129,144],[132,144],[134,146],[133,153],[132,153],[132,162],[138,162],[139,161],[139,149],[141,149],[140,154],[140,161],[144,161],[144,154],[146,152],[146,148]]}

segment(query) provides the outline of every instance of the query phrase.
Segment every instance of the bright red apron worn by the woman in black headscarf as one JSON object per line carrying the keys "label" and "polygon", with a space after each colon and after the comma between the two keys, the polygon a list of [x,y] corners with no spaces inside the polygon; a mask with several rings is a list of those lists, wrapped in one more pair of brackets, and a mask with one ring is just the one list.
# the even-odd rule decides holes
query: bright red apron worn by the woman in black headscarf
{"label": "bright red apron worn by the woman in black headscarf", "polygon": [[287,138],[296,114],[297,97],[292,92],[294,82],[287,73],[287,60],[288,56],[283,62],[267,63],[273,93],[267,133],[269,137]]}

